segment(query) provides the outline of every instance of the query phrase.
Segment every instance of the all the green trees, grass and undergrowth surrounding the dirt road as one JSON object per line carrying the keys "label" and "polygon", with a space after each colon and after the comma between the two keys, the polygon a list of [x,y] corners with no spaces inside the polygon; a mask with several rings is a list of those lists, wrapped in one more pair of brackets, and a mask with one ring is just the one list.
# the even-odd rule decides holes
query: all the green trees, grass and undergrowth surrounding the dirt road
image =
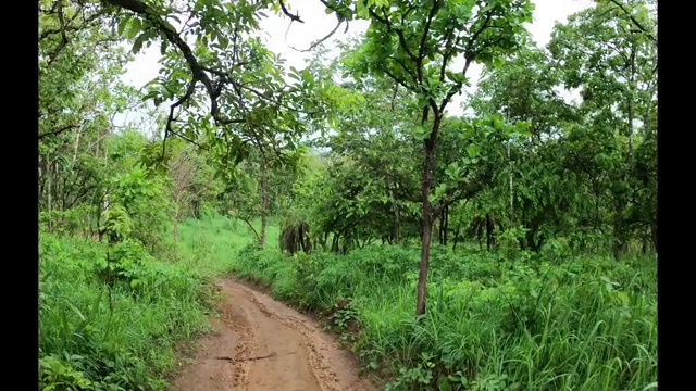
{"label": "all the green trees, grass and undergrowth surrounding the dirt road", "polygon": [[166,388],[233,272],[387,389],[657,388],[655,2],[540,47],[529,0],[322,0],[370,27],[303,70],[289,7],[39,2],[39,387]]}

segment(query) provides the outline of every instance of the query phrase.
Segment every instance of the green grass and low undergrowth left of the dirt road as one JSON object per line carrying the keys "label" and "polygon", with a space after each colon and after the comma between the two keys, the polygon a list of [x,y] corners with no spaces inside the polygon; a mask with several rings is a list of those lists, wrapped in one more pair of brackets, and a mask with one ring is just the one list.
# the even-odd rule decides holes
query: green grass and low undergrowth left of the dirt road
{"label": "green grass and low undergrowth left of the dirt road", "polygon": [[206,331],[202,274],[141,244],[39,235],[39,388],[163,390]]}

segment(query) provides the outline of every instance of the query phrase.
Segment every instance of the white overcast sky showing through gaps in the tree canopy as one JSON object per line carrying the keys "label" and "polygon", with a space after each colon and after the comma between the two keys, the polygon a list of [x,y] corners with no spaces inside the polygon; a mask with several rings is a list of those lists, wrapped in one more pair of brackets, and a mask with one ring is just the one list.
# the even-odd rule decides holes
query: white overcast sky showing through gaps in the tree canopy
{"label": "white overcast sky showing through gaps in the tree canopy", "polygon": [[[567,17],[575,12],[589,7],[592,0],[533,0],[536,9],[534,11],[534,23],[529,27],[533,39],[542,47],[546,46],[550,39],[551,30],[556,22],[566,22]],[[271,15],[261,22],[261,29],[266,34],[266,46],[275,53],[286,59],[286,66],[295,66],[298,70],[304,67],[311,53],[302,53],[291,49],[307,49],[311,42],[323,38],[336,26],[336,17],[327,15],[324,8],[318,0],[296,0],[293,13],[299,12],[304,24],[293,23],[288,31],[289,20],[285,16]],[[344,34],[343,25],[336,34],[324,45],[334,48],[333,41],[345,40],[349,36],[362,34],[368,28],[368,22],[353,21],[347,34]],[[286,36],[287,31],[287,36]],[[159,45],[145,48],[126,70],[123,80],[135,87],[142,87],[146,83],[158,76],[160,65]],[[459,64],[455,64],[458,67]],[[481,65],[472,64],[469,68],[468,77],[472,81],[472,88],[468,92],[473,92],[475,83],[481,74]],[[451,115],[460,115],[462,110],[462,96],[456,96],[448,106]],[[133,117],[135,113],[124,113],[117,122],[123,123],[125,116]],[[137,115],[137,114],[136,114]],[[145,130],[145,129],[144,129]]]}

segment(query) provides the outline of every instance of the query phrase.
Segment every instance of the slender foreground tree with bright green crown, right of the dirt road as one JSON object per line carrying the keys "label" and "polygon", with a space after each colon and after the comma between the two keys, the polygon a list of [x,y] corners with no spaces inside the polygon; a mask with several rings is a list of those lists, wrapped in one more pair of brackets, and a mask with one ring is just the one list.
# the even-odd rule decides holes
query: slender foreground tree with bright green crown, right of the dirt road
{"label": "slender foreground tree with bright green crown, right of the dirt road", "polygon": [[[368,1],[359,17],[370,21],[366,39],[353,61],[353,75],[390,77],[418,99],[419,136],[423,138],[421,186],[422,240],[417,310],[425,313],[425,282],[433,223],[431,187],[437,137],[451,98],[467,84],[472,62],[499,63],[524,37],[530,1]],[[449,70],[463,55],[459,72]]]}

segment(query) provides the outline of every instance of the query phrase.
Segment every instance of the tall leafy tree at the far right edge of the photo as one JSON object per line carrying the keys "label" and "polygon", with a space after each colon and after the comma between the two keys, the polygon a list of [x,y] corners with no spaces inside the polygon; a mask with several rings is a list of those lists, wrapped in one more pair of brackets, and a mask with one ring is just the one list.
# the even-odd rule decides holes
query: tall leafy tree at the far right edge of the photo
{"label": "tall leafy tree at the far right edge of the photo", "polygon": [[[608,169],[616,258],[629,239],[630,211],[639,203],[632,194],[639,182],[630,176],[636,165],[636,146],[641,140],[654,139],[656,131],[655,12],[651,1],[601,1],[572,15],[568,25],[557,26],[549,43],[554,58],[566,70],[566,86],[582,89],[581,110],[587,126],[612,138],[621,151],[612,156]],[[656,201],[644,200],[643,207],[654,211]],[[657,232],[656,218],[648,225]]]}

